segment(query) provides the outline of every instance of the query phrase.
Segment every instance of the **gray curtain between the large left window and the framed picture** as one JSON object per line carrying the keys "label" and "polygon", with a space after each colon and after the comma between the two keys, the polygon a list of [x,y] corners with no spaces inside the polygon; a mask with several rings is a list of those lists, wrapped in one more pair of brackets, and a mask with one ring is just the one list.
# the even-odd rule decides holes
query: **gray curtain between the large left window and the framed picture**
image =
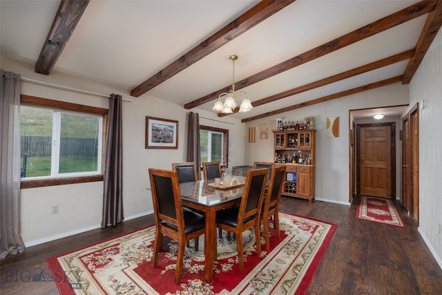
{"label": "gray curtain between the large left window and the framed picture", "polygon": [[124,220],[122,132],[122,96],[113,94],[109,99],[106,133],[102,228]]}

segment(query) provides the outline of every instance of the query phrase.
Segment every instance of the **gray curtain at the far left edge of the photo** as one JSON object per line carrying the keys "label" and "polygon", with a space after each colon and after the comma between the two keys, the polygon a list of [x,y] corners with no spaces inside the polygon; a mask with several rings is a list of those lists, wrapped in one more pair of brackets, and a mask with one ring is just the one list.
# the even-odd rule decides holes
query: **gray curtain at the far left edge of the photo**
{"label": "gray curtain at the far left edge of the photo", "polygon": [[22,253],[20,234],[20,75],[3,72],[0,82],[1,258]]}

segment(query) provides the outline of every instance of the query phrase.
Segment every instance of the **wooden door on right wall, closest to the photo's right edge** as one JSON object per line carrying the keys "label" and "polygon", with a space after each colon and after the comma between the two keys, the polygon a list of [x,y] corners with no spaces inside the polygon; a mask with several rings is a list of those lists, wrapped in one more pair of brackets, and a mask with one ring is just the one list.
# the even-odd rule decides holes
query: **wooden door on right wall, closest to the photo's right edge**
{"label": "wooden door on right wall, closest to the photo's right edge", "polygon": [[410,113],[410,125],[410,145],[412,156],[410,161],[412,166],[412,210],[410,211],[410,215],[414,217],[419,224],[419,116],[417,108],[414,108],[414,110]]}

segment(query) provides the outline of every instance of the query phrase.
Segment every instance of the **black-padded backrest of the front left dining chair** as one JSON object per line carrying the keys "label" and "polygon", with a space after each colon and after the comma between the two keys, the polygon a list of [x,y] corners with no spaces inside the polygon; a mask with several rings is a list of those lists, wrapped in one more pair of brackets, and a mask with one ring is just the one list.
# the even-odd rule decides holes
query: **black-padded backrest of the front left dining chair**
{"label": "black-padded backrest of the front left dining chair", "polygon": [[177,171],[151,168],[149,178],[155,223],[159,226],[162,222],[167,222],[180,231],[180,227],[184,227],[184,219]]}

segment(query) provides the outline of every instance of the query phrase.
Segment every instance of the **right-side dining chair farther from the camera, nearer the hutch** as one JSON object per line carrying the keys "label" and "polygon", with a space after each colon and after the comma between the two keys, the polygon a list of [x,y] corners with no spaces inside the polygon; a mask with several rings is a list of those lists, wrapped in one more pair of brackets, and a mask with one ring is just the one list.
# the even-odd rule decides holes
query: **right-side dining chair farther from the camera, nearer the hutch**
{"label": "right-side dining chair farther from the camera, nearer the hutch", "polygon": [[276,230],[276,237],[280,239],[278,211],[286,169],[285,165],[273,168],[269,188],[263,201],[264,206],[262,207],[261,220],[264,225],[265,247],[267,250],[270,249],[269,218],[273,217],[273,228]]}

